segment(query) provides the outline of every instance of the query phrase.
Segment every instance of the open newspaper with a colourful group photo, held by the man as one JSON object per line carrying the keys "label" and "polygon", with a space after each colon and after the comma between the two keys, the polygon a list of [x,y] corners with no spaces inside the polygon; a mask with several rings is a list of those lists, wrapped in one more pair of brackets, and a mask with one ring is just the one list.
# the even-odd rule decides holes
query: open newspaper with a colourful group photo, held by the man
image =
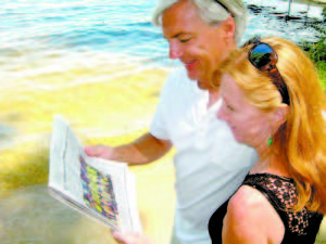
{"label": "open newspaper with a colourful group photo, held by the man", "polygon": [[54,116],[49,192],[112,231],[141,232],[135,177],[125,163],[89,157],[68,123]]}

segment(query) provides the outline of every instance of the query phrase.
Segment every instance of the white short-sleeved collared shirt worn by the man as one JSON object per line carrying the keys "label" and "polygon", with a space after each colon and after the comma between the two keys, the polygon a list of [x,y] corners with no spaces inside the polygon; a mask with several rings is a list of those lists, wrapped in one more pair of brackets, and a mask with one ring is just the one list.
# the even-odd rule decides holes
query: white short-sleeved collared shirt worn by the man
{"label": "white short-sleeved collared shirt worn by the man", "polygon": [[258,160],[253,149],[239,144],[228,125],[217,119],[222,100],[208,108],[209,92],[190,80],[185,68],[168,77],[150,132],[172,141],[177,196],[172,243],[211,243],[211,215],[241,184]]}

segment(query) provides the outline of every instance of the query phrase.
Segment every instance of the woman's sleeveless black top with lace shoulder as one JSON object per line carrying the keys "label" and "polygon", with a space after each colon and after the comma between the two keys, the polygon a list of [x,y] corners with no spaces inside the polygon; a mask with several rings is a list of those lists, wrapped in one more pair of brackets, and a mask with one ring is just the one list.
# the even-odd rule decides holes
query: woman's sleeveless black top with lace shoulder
{"label": "woman's sleeveless black top with lace shoulder", "polygon": [[[323,215],[309,211],[306,208],[297,213],[289,209],[297,200],[297,189],[292,179],[271,174],[255,174],[248,175],[241,185],[249,185],[260,191],[275,208],[285,226],[281,244],[315,242]],[[228,201],[217,208],[210,219],[209,232],[212,244],[222,243],[223,218],[226,215],[227,204]]]}

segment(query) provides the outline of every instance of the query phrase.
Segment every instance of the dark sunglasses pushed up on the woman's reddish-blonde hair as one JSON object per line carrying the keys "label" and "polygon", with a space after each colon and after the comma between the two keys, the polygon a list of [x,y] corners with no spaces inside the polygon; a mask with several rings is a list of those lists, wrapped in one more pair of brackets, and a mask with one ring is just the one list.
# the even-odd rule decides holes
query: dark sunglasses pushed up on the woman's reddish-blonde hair
{"label": "dark sunglasses pushed up on the woman's reddish-blonde hair", "polygon": [[248,53],[250,63],[259,70],[269,73],[273,84],[276,86],[281,95],[281,102],[290,105],[287,85],[276,67],[278,57],[274,49],[269,44],[261,42],[258,37],[255,37],[253,40],[249,40],[242,47],[247,47],[249,44],[252,44],[252,48]]}

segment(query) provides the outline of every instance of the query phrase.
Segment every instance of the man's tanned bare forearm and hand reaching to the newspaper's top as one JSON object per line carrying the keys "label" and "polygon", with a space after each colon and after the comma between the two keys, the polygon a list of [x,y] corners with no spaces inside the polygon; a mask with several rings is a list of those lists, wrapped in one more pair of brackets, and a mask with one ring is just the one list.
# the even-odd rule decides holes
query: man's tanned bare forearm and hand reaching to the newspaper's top
{"label": "man's tanned bare forearm and hand reaching to the newspaper's top", "polygon": [[116,147],[105,145],[86,146],[85,153],[89,156],[140,165],[162,157],[171,147],[171,141],[158,139],[148,132],[129,144]]}

